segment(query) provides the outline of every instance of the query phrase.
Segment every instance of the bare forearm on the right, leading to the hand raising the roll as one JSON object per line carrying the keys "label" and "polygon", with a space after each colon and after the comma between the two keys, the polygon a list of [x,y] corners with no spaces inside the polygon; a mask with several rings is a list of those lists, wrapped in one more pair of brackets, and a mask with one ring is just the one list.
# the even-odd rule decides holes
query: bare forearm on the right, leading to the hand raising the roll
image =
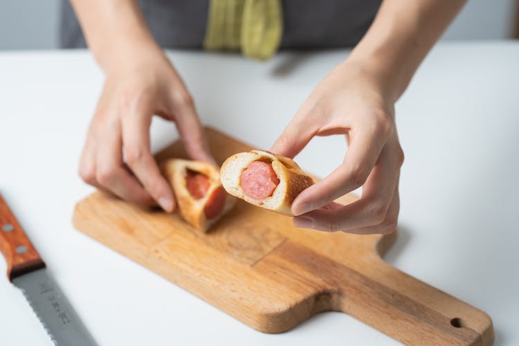
{"label": "bare forearm on the right, leading to the hand raising the roll", "polygon": [[371,72],[396,101],[466,0],[384,0],[348,58]]}

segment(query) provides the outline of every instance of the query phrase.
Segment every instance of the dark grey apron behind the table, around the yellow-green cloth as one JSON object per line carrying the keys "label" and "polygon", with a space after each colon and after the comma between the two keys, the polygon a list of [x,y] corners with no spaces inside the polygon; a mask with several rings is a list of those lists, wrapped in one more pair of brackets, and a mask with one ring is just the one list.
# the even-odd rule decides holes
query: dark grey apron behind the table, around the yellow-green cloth
{"label": "dark grey apron behind the table, around the yellow-green cloth", "polygon": [[[202,48],[209,0],[138,0],[147,24],[164,48]],[[351,47],[372,23],[381,0],[282,0],[281,48]],[[69,1],[62,6],[62,48],[84,48]]]}

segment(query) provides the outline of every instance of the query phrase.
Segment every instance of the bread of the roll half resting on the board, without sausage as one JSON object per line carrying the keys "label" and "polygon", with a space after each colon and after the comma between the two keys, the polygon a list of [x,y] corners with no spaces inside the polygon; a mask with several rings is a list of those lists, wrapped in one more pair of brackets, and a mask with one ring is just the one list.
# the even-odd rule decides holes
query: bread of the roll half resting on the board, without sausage
{"label": "bread of the roll half resting on the board, without sausage", "polygon": [[[210,187],[206,195],[201,199],[195,199],[188,190],[185,178],[188,170],[202,173],[209,178]],[[207,232],[210,226],[215,224],[216,221],[218,221],[235,205],[236,199],[226,195],[224,208],[221,210],[219,215],[213,219],[206,218],[203,211],[206,203],[208,203],[208,199],[212,192],[221,188],[219,170],[217,167],[210,165],[210,163],[183,160],[181,158],[170,158],[161,163],[161,171],[173,188],[179,211],[183,219],[203,232]]]}

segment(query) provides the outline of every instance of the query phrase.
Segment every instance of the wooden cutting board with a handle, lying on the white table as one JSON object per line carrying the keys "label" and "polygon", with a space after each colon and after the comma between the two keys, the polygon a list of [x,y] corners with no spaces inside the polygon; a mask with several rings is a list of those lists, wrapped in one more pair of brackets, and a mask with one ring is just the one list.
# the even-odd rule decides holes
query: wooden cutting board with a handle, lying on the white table
{"label": "wooden cutting board with a handle, lying on the white table", "polygon": [[[207,129],[222,163],[251,149]],[[156,158],[185,157],[174,143]],[[343,202],[354,201],[348,195]],[[489,316],[383,262],[392,235],[294,228],[291,217],[238,201],[201,234],[174,214],[101,192],[80,201],[73,224],[122,255],[266,333],[314,313],[344,311],[408,345],[491,345]]]}

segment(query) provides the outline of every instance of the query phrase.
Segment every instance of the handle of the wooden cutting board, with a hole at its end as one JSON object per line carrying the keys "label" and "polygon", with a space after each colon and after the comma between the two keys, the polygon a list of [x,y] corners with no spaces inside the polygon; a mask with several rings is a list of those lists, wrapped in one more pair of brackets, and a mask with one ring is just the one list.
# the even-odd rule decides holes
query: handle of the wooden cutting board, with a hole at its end
{"label": "handle of the wooden cutting board, with a hole at its end", "polygon": [[492,345],[484,311],[377,260],[371,277],[351,269],[336,276],[338,310],[406,345]]}

